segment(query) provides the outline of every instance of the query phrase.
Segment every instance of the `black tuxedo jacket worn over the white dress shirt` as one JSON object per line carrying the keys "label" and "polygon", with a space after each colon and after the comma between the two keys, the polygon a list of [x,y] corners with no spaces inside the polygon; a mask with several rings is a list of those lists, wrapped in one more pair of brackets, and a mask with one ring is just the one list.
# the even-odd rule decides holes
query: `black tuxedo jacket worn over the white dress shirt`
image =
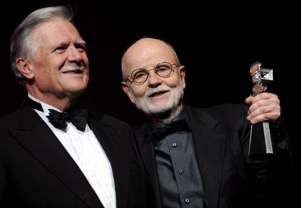
{"label": "black tuxedo jacket worn over the white dress shirt", "polygon": [[[153,207],[132,128],[101,113],[88,115],[112,166],[117,207]],[[26,100],[0,119],[0,207],[13,205],[103,207],[67,150]]]}

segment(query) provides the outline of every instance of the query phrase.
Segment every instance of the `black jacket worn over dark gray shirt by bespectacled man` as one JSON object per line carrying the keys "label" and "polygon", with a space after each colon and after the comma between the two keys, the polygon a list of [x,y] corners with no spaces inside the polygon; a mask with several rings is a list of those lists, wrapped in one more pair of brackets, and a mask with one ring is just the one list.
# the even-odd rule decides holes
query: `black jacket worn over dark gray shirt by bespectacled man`
{"label": "black jacket worn over dark gray shirt by bespectacled man", "polygon": [[[224,104],[207,109],[188,105],[197,162],[209,205],[258,207],[264,197],[267,162],[248,157],[248,107]],[[146,122],[135,129],[143,162],[154,189],[156,207],[162,207],[154,145]]]}

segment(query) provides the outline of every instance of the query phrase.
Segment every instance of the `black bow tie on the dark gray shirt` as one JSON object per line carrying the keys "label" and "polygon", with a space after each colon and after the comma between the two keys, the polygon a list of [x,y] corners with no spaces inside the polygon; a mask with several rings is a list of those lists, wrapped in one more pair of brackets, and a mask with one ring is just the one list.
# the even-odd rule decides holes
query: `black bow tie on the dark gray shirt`
{"label": "black bow tie on the dark gray shirt", "polygon": [[174,121],[171,124],[165,126],[164,128],[157,128],[154,131],[152,131],[148,136],[150,137],[151,141],[154,143],[154,146],[156,147],[157,144],[163,138],[177,131],[188,131],[188,132],[191,131],[185,119]]}

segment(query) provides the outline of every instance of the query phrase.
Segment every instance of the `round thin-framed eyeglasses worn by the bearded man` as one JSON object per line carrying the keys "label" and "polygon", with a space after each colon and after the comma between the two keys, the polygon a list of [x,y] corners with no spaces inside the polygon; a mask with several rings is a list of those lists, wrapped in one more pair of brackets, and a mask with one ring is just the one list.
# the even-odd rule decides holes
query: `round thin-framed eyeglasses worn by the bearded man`
{"label": "round thin-framed eyeglasses worn by the bearded man", "polygon": [[[174,63],[168,63],[168,62],[161,62],[159,63],[156,68],[151,68],[151,69],[135,69],[132,74],[128,75],[132,77],[132,80],[136,83],[144,83],[148,76],[149,76],[149,71],[154,69],[155,73],[160,76],[160,77],[168,77],[171,72],[172,72],[172,65],[175,65]],[[177,65],[175,65],[177,66]]]}

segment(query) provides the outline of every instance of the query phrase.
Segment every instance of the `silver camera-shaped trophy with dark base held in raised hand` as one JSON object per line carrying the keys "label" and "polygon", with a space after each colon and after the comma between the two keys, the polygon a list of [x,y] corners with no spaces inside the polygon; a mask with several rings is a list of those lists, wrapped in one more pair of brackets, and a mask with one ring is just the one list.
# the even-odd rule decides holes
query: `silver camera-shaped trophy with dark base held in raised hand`
{"label": "silver camera-shaped trophy with dark base held in raised hand", "polygon": [[[263,69],[259,62],[254,63],[250,68],[250,74],[253,79],[253,94],[265,92],[268,81],[273,81],[273,69]],[[275,154],[275,145],[268,122],[252,124],[250,136],[250,158],[260,158],[266,154]]]}

